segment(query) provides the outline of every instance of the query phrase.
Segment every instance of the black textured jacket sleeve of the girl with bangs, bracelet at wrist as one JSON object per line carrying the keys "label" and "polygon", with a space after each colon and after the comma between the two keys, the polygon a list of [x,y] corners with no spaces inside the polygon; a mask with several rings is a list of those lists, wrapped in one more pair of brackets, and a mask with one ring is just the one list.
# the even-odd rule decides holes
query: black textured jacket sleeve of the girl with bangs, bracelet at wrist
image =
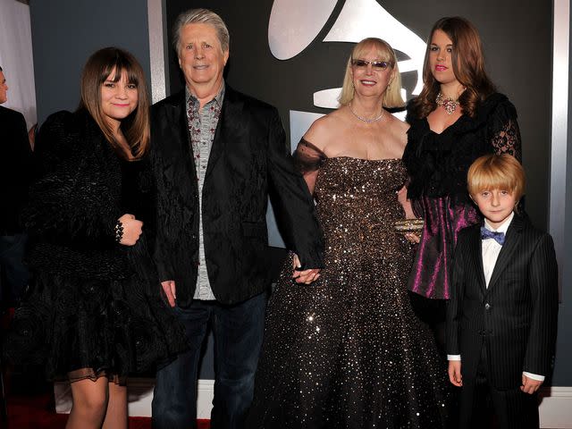
{"label": "black textured jacket sleeve of the girl with bangs, bracelet at wrist", "polygon": [[[38,132],[36,161],[39,178],[29,192],[22,214],[32,235],[48,240],[114,240],[121,214],[101,202],[97,181],[89,174],[83,142],[69,113],[54,114]],[[105,172],[102,172],[105,173]]]}

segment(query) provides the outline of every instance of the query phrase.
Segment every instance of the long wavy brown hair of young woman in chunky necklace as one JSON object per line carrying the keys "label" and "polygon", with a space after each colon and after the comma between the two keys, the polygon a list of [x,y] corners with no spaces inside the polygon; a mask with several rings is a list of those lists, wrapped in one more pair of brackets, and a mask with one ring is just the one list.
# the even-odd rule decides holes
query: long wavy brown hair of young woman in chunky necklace
{"label": "long wavy brown hair of young woman in chunky necklace", "polygon": [[453,43],[453,72],[458,82],[466,88],[458,97],[458,102],[463,114],[474,117],[477,106],[496,89],[484,70],[483,46],[477,29],[465,18],[458,16],[442,18],[435,22],[431,29],[423,65],[424,87],[419,97],[411,102],[410,113],[418,118],[425,118],[437,108],[435,98],[439,94],[440,84],[431,72],[429,54],[433,33],[438,29]]}

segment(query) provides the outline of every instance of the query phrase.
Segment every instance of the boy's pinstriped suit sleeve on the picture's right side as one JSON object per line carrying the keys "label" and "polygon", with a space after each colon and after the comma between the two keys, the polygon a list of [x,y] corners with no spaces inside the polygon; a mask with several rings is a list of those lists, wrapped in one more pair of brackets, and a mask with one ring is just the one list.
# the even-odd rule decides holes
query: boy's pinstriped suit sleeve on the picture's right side
{"label": "boy's pinstriped suit sleeve on the picture's right side", "polygon": [[558,267],[552,238],[538,241],[528,268],[533,314],[523,371],[548,375],[551,370],[558,323]]}

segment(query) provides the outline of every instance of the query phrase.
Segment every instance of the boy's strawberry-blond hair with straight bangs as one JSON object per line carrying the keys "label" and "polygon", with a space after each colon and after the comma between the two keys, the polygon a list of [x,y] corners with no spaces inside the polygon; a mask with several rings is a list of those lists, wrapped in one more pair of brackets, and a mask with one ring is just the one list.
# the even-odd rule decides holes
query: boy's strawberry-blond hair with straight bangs
{"label": "boy's strawberry-blond hair with straight bangs", "polygon": [[525,185],[525,169],[517,158],[508,154],[481,156],[467,172],[467,189],[471,196],[485,189],[504,189],[518,201],[525,193]]}

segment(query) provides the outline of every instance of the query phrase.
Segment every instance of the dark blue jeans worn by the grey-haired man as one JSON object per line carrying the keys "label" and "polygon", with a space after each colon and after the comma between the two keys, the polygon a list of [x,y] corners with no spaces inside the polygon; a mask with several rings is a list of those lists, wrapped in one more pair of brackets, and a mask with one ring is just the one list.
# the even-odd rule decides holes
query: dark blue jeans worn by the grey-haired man
{"label": "dark blue jeans worn by the grey-haired man", "polygon": [[152,405],[155,429],[197,427],[198,360],[211,322],[215,374],[211,428],[244,428],[254,394],[266,300],[263,293],[234,306],[195,300],[189,308],[174,308],[185,326],[190,349],[157,372]]}

